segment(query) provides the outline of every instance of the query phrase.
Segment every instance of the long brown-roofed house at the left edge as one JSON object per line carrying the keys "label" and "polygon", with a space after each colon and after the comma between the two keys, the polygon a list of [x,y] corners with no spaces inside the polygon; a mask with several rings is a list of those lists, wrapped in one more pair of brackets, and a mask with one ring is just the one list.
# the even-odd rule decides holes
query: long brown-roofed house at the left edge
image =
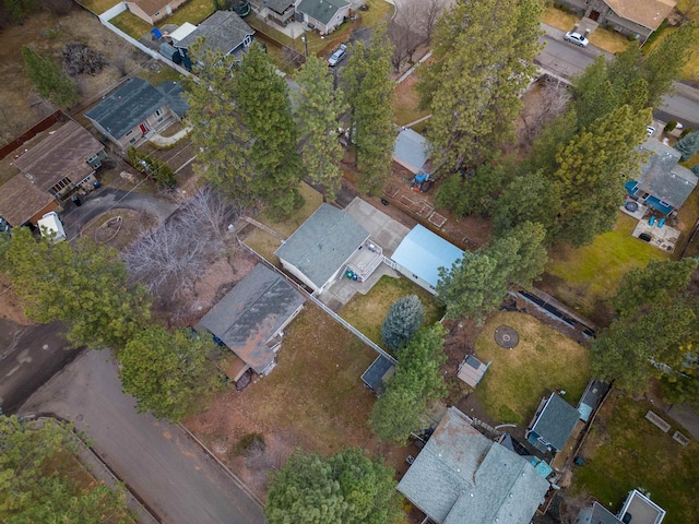
{"label": "long brown-roofed house at the left edge", "polygon": [[34,224],[76,190],[91,190],[105,147],[69,120],[43,131],[14,153],[16,175],[0,187],[0,217],[10,226]]}

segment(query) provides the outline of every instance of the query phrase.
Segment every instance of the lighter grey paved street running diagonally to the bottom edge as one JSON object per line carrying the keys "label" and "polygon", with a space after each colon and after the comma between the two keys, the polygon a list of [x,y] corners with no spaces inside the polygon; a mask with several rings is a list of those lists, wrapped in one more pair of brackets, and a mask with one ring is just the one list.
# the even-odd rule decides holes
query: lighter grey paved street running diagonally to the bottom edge
{"label": "lighter grey paved street running diagonally to the bottom edge", "polygon": [[140,415],[107,352],[86,350],[20,408],[73,420],[111,469],[168,524],[261,524],[261,508],[170,424]]}

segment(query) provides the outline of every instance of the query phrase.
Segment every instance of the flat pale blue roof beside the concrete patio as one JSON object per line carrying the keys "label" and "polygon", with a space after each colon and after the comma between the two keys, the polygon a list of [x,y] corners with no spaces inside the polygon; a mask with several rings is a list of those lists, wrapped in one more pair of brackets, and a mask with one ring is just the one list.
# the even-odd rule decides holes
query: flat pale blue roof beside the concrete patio
{"label": "flat pale blue roof beside the concrete patio", "polygon": [[437,287],[439,267],[451,269],[462,257],[463,251],[453,243],[417,225],[405,236],[391,259]]}

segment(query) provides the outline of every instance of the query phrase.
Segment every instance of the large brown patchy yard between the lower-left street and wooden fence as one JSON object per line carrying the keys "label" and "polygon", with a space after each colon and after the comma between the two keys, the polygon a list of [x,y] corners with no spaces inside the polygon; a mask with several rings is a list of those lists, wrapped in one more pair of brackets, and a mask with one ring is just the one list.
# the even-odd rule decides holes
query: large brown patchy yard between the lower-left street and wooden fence
{"label": "large brown patchy yard between the lower-left street and wooden fence", "polygon": [[[263,496],[268,474],[295,448],[322,454],[345,445],[368,448],[372,437],[367,420],[376,397],[360,377],[376,357],[307,302],[286,330],[272,372],[242,392],[227,390],[187,427]],[[264,436],[259,456],[240,450],[241,439],[250,433]]]}

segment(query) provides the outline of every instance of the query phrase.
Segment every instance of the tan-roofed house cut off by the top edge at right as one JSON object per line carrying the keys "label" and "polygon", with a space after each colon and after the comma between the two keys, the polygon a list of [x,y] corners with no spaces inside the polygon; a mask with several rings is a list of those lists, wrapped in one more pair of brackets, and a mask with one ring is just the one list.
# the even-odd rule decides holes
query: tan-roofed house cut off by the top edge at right
{"label": "tan-roofed house cut off by the top edge at right", "polygon": [[562,3],[600,25],[611,25],[619,33],[645,41],[670,15],[677,0],[562,0]]}

